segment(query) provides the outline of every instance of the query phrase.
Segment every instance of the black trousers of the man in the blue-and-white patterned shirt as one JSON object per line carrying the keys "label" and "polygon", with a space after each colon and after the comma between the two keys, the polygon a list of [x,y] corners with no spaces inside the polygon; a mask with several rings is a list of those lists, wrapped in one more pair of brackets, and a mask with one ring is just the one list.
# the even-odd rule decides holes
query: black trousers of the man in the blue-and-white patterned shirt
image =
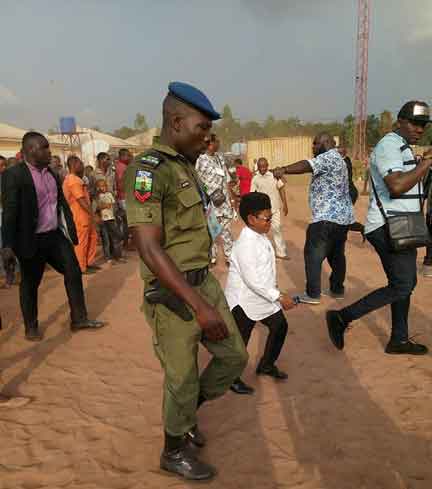
{"label": "black trousers of the man in the blue-and-white patterned shirt", "polygon": [[343,294],[346,274],[345,243],[349,226],[329,221],[314,222],[306,231],[304,259],[306,269],[306,294],[321,295],[321,267],[325,258],[332,269],[330,290]]}

